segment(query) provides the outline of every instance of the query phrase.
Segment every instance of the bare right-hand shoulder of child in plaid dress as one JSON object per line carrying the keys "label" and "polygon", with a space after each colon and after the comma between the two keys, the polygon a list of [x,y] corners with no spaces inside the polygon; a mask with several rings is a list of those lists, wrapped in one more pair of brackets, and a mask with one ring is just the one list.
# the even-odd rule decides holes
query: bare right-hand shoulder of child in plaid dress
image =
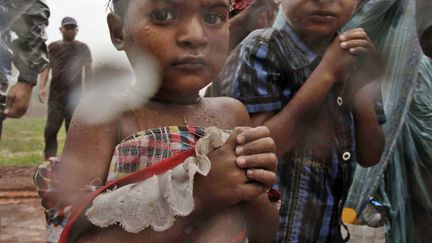
{"label": "bare right-hand shoulder of child in plaid dress", "polygon": [[231,126],[250,126],[251,121],[246,107],[230,97],[205,98],[211,115],[223,118]]}

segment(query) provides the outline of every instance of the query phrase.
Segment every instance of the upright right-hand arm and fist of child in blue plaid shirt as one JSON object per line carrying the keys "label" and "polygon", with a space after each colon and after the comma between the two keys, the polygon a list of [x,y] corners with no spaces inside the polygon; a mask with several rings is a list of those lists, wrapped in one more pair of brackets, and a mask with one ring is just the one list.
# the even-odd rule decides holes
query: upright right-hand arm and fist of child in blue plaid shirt
{"label": "upright right-hand arm and fist of child in blue plaid shirt", "polygon": [[347,84],[345,100],[354,114],[357,162],[364,167],[373,166],[379,162],[385,145],[374,106],[379,84],[372,83],[382,75],[384,61],[362,28],[342,34],[340,40],[342,48],[362,59],[359,69]]}

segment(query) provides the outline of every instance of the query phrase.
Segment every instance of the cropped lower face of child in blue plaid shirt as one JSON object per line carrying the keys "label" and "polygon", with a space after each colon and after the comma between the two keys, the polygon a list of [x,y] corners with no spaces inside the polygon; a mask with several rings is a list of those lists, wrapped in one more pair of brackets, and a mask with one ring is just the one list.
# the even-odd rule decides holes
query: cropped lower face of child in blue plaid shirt
{"label": "cropped lower face of child in blue plaid shirt", "polygon": [[350,18],[357,0],[283,0],[284,13],[300,35],[329,37]]}

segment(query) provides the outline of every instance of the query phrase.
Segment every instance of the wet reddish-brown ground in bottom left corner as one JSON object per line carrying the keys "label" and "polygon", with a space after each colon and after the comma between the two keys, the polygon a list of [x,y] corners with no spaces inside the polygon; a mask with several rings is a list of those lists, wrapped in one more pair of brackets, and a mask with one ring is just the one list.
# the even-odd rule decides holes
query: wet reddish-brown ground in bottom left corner
{"label": "wet reddish-brown ground in bottom left corner", "polygon": [[34,167],[0,167],[0,242],[45,242]]}

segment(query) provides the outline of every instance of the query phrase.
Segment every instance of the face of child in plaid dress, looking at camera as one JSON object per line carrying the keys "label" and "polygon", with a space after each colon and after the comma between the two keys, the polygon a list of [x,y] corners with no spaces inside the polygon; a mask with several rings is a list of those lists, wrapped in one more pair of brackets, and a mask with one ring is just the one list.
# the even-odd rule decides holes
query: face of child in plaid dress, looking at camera
{"label": "face of child in plaid dress, looking at camera", "polygon": [[130,0],[124,35],[133,66],[144,52],[159,62],[162,91],[199,91],[228,54],[228,0]]}

